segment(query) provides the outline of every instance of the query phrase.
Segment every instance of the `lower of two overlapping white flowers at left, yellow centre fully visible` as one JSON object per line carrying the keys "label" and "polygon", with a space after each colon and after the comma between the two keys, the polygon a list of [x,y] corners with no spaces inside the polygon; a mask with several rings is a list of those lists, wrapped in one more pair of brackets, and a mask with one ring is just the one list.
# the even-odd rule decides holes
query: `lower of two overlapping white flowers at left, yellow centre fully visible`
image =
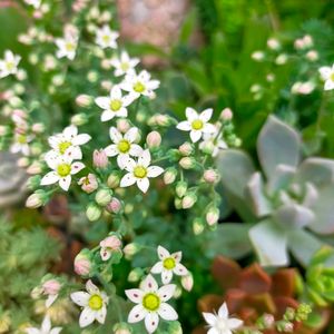
{"label": "lower of two overlapping white flowers at left, yellow centre fully visible", "polygon": [[53,170],[43,176],[40,185],[48,186],[59,183],[59,186],[66,191],[71,184],[71,175],[77,174],[85,168],[85,165],[82,163],[72,163],[72,159],[68,156],[50,155],[48,156],[48,159],[46,159],[46,161],[48,166]]}

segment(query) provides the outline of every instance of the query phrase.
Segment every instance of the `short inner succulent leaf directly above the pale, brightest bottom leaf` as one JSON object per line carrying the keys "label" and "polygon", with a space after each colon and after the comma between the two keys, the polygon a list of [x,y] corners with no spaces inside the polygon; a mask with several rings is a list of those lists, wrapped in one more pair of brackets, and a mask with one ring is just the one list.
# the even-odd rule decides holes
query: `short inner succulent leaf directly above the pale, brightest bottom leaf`
{"label": "short inner succulent leaf directly above the pale, brightest bottom leaf", "polygon": [[283,228],[303,228],[314,219],[314,213],[302,205],[289,203],[281,206],[273,215],[273,219]]}

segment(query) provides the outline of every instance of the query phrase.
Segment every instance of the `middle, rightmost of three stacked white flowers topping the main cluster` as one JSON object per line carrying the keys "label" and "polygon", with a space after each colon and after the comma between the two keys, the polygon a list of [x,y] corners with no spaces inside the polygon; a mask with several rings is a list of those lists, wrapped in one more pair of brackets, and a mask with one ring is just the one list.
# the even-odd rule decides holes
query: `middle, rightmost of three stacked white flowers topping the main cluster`
{"label": "middle, rightmost of three stacked white flowers topping the main cluster", "polygon": [[135,71],[129,71],[125,80],[120,84],[120,88],[130,94],[132,99],[139,98],[141,95],[154,97],[154,90],[159,87],[158,80],[151,80],[148,71],[141,71],[137,75]]}

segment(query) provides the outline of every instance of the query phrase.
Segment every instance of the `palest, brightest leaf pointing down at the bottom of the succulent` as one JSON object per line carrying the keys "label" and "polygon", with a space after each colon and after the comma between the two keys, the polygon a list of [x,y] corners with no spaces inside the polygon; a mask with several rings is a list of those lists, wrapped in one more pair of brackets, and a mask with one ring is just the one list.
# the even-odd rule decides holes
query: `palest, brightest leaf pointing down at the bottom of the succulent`
{"label": "palest, brightest leaf pointing down at the bottom of the succulent", "polygon": [[285,266],[288,264],[285,232],[274,222],[265,220],[249,230],[249,238],[262,266]]}

